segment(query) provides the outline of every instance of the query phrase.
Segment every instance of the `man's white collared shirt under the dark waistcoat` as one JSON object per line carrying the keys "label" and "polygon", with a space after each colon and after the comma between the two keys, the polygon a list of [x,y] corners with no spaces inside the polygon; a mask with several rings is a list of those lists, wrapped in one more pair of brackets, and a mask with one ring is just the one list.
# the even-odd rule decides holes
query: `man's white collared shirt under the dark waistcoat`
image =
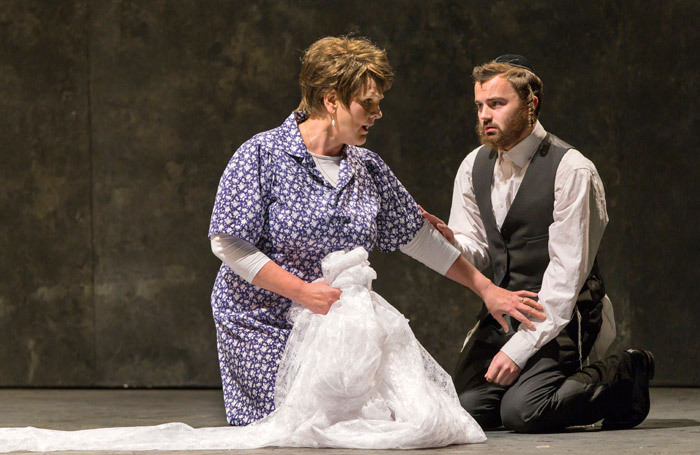
{"label": "man's white collared shirt under the dark waistcoat", "polygon": [[[499,229],[546,134],[537,122],[532,133],[515,147],[498,152],[491,202]],[[455,233],[455,246],[483,270],[490,261],[488,241],[472,183],[472,168],[480,148],[467,155],[457,171],[448,224]],[[603,182],[595,165],[575,149],[566,152],[557,168],[553,218],[549,226],[550,261],[538,294],[547,319],[533,319],[534,331],[520,325],[501,348],[521,368],[571,320],[578,291],[590,273],[608,223]]]}

